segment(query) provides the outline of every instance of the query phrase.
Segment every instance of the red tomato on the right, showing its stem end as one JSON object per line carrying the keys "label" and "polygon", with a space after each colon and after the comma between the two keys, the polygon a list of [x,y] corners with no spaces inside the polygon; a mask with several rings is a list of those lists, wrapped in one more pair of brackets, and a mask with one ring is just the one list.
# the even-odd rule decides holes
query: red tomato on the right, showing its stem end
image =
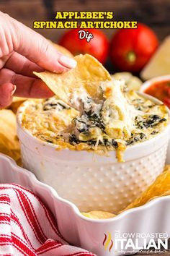
{"label": "red tomato on the right, showing its stem end", "polygon": [[112,63],[122,71],[140,72],[158,47],[158,38],[151,28],[138,23],[138,28],[118,30],[112,37]]}

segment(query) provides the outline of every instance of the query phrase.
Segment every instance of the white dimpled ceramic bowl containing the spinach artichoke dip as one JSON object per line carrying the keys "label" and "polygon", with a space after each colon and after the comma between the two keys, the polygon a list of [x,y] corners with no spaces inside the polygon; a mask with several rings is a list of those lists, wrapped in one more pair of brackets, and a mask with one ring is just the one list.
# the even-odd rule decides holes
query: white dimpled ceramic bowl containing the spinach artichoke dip
{"label": "white dimpled ceramic bowl containing the spinach artichoke dip", "polygon": [[57,145],[37,140],[21,126],[22,113],[28,105],[29,101],[25,101],[17,113],[24,168],[81,211],[117,213],[163,171],[170,125],[153,139],[129,147],[125,151],[125,163],[117,163],[115,151],[110,152],[109,157],[87,151],[58,151]]}

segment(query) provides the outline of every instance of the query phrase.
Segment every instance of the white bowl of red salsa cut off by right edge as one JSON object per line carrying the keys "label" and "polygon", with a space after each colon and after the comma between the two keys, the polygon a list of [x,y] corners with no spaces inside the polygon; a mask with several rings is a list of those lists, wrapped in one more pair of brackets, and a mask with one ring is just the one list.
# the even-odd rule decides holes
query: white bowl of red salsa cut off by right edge
{"label": "white bowl of red salsa cut off by right edge", "polygon": [[144,82],[140,91],[158,98],[170,108],[170,74]]}

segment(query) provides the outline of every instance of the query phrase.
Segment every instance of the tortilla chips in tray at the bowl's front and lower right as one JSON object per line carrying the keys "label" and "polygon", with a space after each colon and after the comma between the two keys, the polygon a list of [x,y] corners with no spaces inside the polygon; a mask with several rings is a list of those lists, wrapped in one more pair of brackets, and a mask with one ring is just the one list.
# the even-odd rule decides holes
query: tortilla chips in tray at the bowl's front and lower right
{"label": "tortilla chips in tray at the bowl's front and lower right", "polygon": [[[164,172],[156,178],[155,182],[153,182],[153,184],[151,184],[151,186],[149,186],[148,189],[146,189],[146,191],[144,191],[142,195],[140,195],[140,197],[131,202],[130,205],[128,205],[125,209],[121,210],[120,213],[128,209],[145,205],[146,202],[149,202],[156,197],[163,197],[166,195],[170,195],[170,165],[165,166]],[[97,210],[92,210],[89,213],[81,214],[83,214],[87,218],[96,219],[113,218],[116,216],[113,213],[107,213]]]}

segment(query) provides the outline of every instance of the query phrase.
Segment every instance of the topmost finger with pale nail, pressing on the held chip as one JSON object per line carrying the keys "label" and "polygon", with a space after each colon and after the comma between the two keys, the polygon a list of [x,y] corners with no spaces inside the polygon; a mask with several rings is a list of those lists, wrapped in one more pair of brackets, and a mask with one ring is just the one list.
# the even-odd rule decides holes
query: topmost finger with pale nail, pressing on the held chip
{"label": "topmost finger with pale nail, pressing on the held chip", "polygon": [[[11,18],[12,19],[12,18]],[[63,54],[42,35],[12,19],[14,27],[14,51],[51,72],[63,72],[76,67],[76,61]]]}

